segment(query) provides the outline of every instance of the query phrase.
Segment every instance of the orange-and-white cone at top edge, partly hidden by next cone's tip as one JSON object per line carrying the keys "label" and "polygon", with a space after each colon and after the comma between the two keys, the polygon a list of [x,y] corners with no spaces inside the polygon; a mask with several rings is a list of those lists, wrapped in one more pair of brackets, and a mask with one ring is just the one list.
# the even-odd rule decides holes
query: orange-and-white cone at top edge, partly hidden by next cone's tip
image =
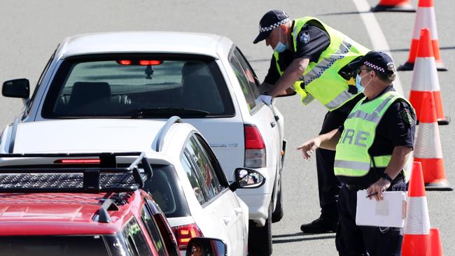
{"label": "orange-and-white cone at top edge, partly hidden by next cone's tip", "polygon": [[447,71],[447,68],[442,63],[439,52],[439,40],[437,39],[435,10],[433,8],[433,0],[419,0],[417,7],[416,20],[414,23],[414,33],[411,41],[411,48],[409,49],[409,57],[407,62],[398,67],[399,71],[408,71],[414,69],[414,62],[416,59],[417,48],[419,45],[419,33],[423,27],[430,28],[431,43],[433,45],[433,52],[436,59],[436,67],[438,71]]}

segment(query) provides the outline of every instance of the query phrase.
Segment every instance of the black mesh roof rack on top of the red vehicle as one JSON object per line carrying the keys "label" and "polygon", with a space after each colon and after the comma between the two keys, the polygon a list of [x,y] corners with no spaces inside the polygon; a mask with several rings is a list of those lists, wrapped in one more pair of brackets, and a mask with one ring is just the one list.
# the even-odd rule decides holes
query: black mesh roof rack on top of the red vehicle
{"label": "black mesh roof rack on top of the red vehicle", "polygon": [[[131,192],[144,187],[153,175],[144,152],[0,154],[1,161],[15,157],[127,157],[137,158],[126,168],[73,167],[62,164],[0,166],[0,192]],[[141,164],[143,171],[139,170]],[[30,166],[30,167],[29,167]]]}

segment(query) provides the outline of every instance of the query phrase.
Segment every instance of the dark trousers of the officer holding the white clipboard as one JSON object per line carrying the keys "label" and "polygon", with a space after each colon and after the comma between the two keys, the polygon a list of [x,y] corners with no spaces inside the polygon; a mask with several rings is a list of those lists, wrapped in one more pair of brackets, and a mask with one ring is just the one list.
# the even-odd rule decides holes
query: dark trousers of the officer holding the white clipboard
{"label": "dark trousers of the officer holding the white clipboard", "polygon": [[[405,191],[406,183],[396,183],[389,190]],[[335,239],[339,255],[401,255],[402,228],[357,226],[356,206],[357,190],[343,185],[338,197],[339,222]]]}

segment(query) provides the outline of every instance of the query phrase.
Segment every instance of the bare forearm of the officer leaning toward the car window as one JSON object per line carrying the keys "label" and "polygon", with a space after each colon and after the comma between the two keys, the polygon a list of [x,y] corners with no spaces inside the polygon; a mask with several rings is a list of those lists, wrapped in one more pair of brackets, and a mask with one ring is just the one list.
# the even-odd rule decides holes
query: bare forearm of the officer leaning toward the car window
{"label": "bare forearm of the officer leaning toward the car window", "polygon": [[295,83],[299,78],[302,77],[305,69],[309,64],[308,58],[297,58],[286,68],[283,75],[275,83],[275,86],[270,90],[269,95],[276,97],[279,94],[286,91],[291,85]]}

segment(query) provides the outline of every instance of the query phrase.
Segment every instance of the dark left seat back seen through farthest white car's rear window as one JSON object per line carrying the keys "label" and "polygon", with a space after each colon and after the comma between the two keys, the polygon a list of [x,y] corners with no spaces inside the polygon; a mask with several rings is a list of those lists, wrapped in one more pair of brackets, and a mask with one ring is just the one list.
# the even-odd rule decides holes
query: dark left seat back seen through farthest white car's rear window
{"label": "dark left seat back seen through farthest white car's rear window", "polygon": [[106,110],[111,99],[111,87],[105,82],[76,82],[69,98],[73,113],[94,113]]}

